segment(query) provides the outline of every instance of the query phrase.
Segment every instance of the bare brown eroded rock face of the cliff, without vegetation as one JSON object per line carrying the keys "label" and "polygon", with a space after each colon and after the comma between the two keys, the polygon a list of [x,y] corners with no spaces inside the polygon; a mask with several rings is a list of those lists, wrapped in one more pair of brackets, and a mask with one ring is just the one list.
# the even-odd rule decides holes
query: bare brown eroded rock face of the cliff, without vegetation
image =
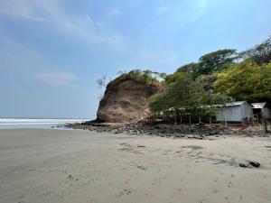
{"label": "bare brown eroded rock face of the cliff, without vegetation", "polygon": [[161,87],[146,86],[143,82],[126,79],[107,87],[98,106],[100,122],[126,123],[144,119],[149,115],[148,98]]}

